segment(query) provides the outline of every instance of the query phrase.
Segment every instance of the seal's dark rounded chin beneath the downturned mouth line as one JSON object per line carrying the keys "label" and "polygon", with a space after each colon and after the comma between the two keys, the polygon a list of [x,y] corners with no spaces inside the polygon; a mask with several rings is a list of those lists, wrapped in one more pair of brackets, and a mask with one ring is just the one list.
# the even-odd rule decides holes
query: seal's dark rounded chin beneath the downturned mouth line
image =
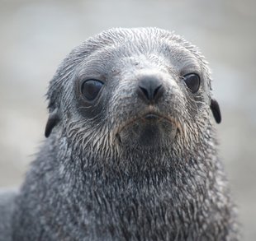
{"label": "seal's dark rounded chin beneath the downturned mouth line", "polygon": [[172,143],[177,130],[178,127],[170,118],[148,113],[127,122],[118,132],[118,139],[124,146],[157,148]]}

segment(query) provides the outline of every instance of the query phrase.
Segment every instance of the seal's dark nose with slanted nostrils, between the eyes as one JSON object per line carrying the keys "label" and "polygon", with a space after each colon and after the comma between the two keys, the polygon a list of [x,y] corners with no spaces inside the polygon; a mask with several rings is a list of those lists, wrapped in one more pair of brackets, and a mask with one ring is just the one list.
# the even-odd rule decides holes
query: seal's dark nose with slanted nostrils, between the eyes
{"label": "seal's dark nose with slanted nostrils, between the eyes", "polygon": [[138,95],[145,101],[156,101],[164,93],[164,87],[156,76],[143,76],[139,80]]}

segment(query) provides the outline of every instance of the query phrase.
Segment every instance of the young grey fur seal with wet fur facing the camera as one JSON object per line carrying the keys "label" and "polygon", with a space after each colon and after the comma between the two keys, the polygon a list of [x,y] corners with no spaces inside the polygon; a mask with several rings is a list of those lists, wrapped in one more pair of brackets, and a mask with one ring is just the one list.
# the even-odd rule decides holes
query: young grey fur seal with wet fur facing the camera
{"label": "young grey fur seal with wet fur facing the camera", "polygon": [[1,240],[238,240],[195,46],[157,28],[104,31],[64,59],[48,99],[48,139],[0,198]]}

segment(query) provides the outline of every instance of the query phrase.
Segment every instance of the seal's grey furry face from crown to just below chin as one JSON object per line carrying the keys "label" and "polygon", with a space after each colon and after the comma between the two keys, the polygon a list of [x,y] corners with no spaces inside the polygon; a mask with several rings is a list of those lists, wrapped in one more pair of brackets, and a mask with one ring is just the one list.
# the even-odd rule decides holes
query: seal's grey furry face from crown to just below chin
{"label": "seal's grey furry face from crown to just below chin", "polygon": [[[53,119],[63,120],[62,135],[83,156],[88,149],[123,160],[134,151],[144,157],[152,150],[186,151],[209,127],[204,58],[168,31],[108,30],[74,49],[60,69],[49,90],[49,96],[64,93],[50,103],[60,110]],[[56,122],[50,123],[51,130]]]}

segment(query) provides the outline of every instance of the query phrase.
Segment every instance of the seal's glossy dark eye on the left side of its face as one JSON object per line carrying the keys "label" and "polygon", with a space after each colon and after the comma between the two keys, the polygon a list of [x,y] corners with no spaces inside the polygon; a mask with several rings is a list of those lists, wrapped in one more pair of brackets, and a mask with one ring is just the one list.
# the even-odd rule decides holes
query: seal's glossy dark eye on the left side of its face
{"label": "seal's glossy dark eye on the left side of its face", "polygon": [[87,100],[94,100],[97,97],[97,94],[102,89],[103,83],[102,81],[90,79],[87,81],[83,81],[83,84],[81,86],[81,91],[83,96]]}

